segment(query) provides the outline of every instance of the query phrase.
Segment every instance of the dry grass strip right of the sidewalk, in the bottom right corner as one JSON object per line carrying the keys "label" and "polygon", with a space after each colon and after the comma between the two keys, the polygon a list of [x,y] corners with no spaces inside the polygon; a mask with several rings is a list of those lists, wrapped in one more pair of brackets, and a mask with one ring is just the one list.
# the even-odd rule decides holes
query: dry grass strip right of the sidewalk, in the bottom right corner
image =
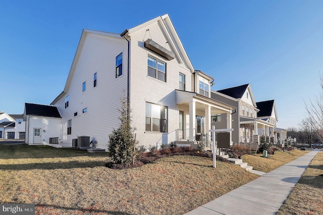
{"label": "dry grass strip right of the sidewalk, in the bottom right corner", "polygon": [[323,214],[323,152],[318,152],[277,214]]}

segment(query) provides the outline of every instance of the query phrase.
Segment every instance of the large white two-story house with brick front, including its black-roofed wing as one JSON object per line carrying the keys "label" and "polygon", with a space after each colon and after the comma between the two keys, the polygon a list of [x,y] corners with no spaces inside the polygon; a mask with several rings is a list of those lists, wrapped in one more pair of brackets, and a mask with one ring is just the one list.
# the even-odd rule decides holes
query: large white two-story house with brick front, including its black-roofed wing
{"label": "large white two-story house with brick front, including its black-roofed wing", "polygon": [[235,107],[211,98],[212,84],[212,77],[194,70],[168,15],[121,34],[84,29],[63,92],[38,110],[56,114],[39,114],[37,104],[26,103],[26,143],[59,137],[71,147],[72,139],[90,136],[106,149],[124,95],[140,145],[194,142],[209,137],[211,116],[226,113],[231,128]]}

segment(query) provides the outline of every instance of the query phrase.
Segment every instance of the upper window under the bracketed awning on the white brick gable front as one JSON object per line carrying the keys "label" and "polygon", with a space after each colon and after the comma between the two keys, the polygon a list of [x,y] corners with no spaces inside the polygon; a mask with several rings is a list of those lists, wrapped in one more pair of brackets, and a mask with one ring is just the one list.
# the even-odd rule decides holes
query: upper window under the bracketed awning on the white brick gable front
{"label": "upper window under the bracketed awning on the white brick gable front", "polygon": [[166,64],[148,56],[148,76],[166,82]]}

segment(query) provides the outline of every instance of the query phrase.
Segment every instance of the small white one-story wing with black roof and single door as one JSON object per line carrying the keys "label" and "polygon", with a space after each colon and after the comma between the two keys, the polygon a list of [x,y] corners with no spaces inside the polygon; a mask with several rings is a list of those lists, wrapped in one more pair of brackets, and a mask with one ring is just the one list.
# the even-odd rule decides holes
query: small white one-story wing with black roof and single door
{"label": "small white one-story wing with black roof and single door", "polygon": [[62,118],[56,107],[25,103],[23,119],[26,122],[25,143],[40,145],[49,143],[49,138],[60,139]]}

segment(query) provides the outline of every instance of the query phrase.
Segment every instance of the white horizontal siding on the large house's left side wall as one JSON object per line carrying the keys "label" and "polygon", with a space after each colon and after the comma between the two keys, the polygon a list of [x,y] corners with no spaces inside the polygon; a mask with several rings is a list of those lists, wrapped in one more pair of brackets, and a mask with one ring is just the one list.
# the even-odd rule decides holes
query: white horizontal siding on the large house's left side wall
{"label": "white horizontal siding on the large house's left side wall", "polygon": [[[118,38],[117,38],[118,37]],[[64,108],[64,97],[57,106],[62,116],[62,141],[71,146],[72,139],[77,136],[89,136],[97,141],[97,148],[106,148],[109,134],[118,128],[120,113],[120,97],[127,90],[128,43],[125,39],[88,33],[80,52],[67,94],[73,97],[69,108]],[[123,75],[116,79],[116,57],[123,53]],[[146,58],[143,60],[146,63]],[[99,83],[93,86],[93,71],[99,74]],[[80,85],[90,80],[86,91]],[[109,96],[107,96],[109,95]],[[126,92],[127,96],[127,92]],[[82,113],[87,108],[87,113]],[[74,116],[74,113],[78,113]],[[72,119],[72,134],[67,135],[67,121]]]}

